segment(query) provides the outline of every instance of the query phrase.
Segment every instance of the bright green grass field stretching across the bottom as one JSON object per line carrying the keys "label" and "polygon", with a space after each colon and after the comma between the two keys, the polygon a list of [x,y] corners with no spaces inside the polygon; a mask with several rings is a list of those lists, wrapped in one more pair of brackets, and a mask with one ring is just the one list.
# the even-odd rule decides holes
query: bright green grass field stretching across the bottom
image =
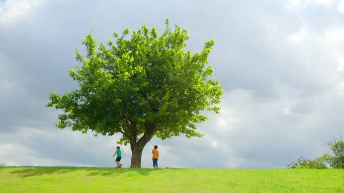
{"label": "bright green grass field stretching across the bottom", "polygon": [[0,167],[0,192],[344,192],[344,169]]}

